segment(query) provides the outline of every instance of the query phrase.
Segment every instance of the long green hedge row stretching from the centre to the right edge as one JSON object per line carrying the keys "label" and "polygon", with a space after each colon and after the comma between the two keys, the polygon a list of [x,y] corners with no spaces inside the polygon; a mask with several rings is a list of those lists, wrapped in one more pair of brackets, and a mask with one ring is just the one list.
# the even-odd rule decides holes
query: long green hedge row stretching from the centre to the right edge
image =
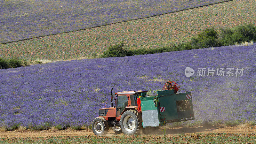
{"label": "long green hedge row stretching from the centre to the right edge", "polygon": [[[219,47],[235,45],[241,42],[256,42],[256,26],[251,24],[241,25],[235,28],[220,29],[220,33],[215,28],[206,28],[196,37],[192,37],[189,42],[178,45],[172,44],[167,47],[155,49],[124,49],[124,43],[111,46],[100,57],[124,57],[133,55],[153,54],[169,51],[203,49],[208,47]],[[95,57],[95,55],[93,55]]]}

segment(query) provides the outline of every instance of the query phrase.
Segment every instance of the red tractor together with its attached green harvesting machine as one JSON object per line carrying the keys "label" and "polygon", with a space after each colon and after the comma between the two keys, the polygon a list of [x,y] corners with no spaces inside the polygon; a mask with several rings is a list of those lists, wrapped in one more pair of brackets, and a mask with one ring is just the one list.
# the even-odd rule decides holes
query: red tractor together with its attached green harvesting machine
{"label": "red tractor together with its attached green harvesting machine", "polygon": [[115,93],[115,106],[112,88],[111,107],[99,110],[99,117],[92,121],[93,133],[104,135],[112,127],[116,133],[130,135],[166,123],[195,119],[191,92],[176,94],[179,87],[167,81],[163,91],[158,91],[156,96],[146,96],[148,91],[141,90]]}

